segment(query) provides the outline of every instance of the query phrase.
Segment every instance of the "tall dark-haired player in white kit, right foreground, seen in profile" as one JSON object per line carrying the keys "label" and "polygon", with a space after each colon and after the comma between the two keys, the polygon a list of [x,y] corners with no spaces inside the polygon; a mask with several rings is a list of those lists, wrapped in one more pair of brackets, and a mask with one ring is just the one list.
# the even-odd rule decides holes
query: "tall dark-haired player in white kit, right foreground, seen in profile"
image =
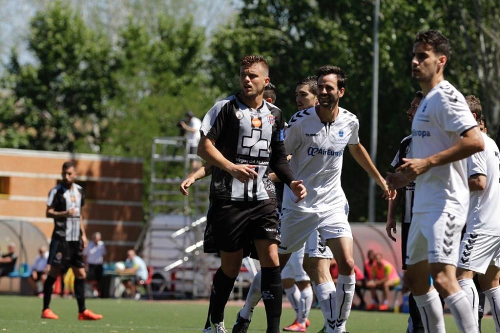
{"label": "tall dark-haired player in white kit, right foreground, seen in profile", "polygon": [[445,332],[439,293],[458,330],[474,333],[472,306],[455,273],[469,202],[465,158],[483,150],[484,142],[465,98],[444,80],[448,39],[435,30],[418,32],[412,52],[412,77],[424,95],[411,125],[413,158],[387,174],[391,188],[416,179],[406,278],[425,332]]}

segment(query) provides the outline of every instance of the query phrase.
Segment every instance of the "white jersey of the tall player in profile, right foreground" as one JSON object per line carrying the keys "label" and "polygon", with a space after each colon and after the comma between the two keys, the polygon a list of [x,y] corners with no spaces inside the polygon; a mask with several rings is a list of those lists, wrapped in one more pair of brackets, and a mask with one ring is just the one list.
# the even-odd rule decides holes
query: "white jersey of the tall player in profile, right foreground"
{"label": "white jersey of the tall player in profile, right foreground", "polygon": [[[425,158],[453,146],[477,126],[463,95],[441,81],[423,98],[411,124],[414,158]],[[446,212],[465,220],[469,190],[465,159],[433,167],[415,180],[413,213]]]}

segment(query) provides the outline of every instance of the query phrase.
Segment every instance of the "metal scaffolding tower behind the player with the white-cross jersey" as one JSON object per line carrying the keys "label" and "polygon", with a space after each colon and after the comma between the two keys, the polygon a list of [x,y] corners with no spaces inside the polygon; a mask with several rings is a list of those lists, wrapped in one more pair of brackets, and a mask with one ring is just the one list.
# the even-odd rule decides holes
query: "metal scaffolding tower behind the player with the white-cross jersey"
{"label": "metal scaffolding tower behind the player with the white-cross jersey", "polygon": [[193,160],[184,137],[154,138],[151,150],[149,218],[139,238],[142,255],[154,268],[158,296],[206,296],[206,276],[213,256],[203,254],[203,232],[210,180],[202,179],[179,192]]}

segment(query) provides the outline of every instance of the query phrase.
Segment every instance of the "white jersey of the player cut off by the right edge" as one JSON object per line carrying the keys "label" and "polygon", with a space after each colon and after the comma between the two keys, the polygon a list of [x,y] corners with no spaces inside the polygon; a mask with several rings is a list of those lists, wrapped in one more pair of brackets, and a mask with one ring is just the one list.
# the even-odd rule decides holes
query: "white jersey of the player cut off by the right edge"
{"label": "white jersey of the player cut off by the right edge", "polygon": [[467,232],[500,236],[500,152],[496,143],[482,134],[484,150],[467,158],[468,176],[486,176],[482,191],[470,192]]}

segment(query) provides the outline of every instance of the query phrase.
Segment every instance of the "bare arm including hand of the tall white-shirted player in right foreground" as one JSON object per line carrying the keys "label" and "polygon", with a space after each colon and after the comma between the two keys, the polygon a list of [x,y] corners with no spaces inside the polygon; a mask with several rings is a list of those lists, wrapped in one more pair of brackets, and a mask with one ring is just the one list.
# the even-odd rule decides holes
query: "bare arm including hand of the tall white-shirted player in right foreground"
{"label": "bare arm including hand of the tall white-shirted player in right foreground", "polygon": [[396,169],[396,173],[401,172],[407,179],[412,181],[430,168],[464,159],[483,149],[484,142],[481,132],[478,127],[473,127],[463,133],[461,140],[437,154],[426,158],[403,158],[404,164]]}

